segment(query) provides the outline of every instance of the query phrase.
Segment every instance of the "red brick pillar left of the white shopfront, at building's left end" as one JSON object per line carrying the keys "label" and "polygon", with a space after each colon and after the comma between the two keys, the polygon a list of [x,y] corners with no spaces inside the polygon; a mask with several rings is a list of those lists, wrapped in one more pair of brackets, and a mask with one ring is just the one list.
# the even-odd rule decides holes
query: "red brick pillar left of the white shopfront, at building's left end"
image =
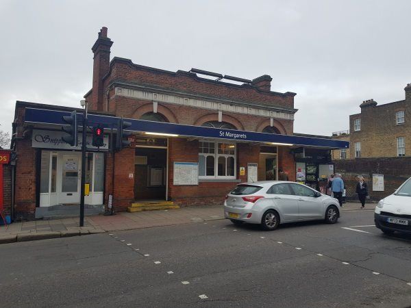
{"label": "red brick pillar left of the white shopfront, at building's left end", "polygon": [[34,219],[36,214],[36,181],[40,181],[40,177],[36,178],[36,154],[31,139],[16,142],[16,220]]}

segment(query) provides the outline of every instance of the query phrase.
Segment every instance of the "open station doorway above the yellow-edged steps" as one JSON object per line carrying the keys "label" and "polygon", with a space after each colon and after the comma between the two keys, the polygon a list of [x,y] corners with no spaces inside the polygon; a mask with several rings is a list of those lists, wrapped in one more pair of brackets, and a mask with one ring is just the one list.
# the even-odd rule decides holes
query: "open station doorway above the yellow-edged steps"
{"label": "open station doorway above the yellow-edged steps", "polygon": [[134,199],[166,200],[167,149],[136,148]]}

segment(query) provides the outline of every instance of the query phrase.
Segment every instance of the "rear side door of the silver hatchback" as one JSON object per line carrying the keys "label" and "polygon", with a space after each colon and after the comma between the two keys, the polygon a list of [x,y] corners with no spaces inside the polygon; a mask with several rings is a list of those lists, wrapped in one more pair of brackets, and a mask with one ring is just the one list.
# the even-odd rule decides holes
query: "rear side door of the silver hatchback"
{"label": "rear side door of the silver hatchback", "polygon": [[288,183],[279,183],[271,186],[266,192],[267,197],[273,200],[282,219],[287,222],[299,219],[298,200]]}

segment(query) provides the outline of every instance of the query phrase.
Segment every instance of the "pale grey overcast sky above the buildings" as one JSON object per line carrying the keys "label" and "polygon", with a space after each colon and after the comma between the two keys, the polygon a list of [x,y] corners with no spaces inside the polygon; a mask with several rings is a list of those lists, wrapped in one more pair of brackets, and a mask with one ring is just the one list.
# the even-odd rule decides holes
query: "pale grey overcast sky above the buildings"
{"label": "pale grey overcast sky above the buildings", "polygon": [[201,68],[296,92],[295,132],[348,129],[365,99],[404,99],[411,1],[0,0],[0,129],[16,100],[79,107],[102,26],[112,57]]}

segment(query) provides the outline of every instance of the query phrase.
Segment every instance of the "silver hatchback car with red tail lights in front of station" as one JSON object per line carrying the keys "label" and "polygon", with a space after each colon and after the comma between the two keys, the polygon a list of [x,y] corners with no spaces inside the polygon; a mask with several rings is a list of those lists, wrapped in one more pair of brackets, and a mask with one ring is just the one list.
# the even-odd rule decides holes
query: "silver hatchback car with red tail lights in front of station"
{"label": "silver hatchback car with red tail lights in front of station", "polygon": [[275,230],[279,224],[325,220],[334,224],[340,217],[336,198],[306,185],[289,181],[242,183],[225,196],[224,216],[234,224],[261,224]]}

